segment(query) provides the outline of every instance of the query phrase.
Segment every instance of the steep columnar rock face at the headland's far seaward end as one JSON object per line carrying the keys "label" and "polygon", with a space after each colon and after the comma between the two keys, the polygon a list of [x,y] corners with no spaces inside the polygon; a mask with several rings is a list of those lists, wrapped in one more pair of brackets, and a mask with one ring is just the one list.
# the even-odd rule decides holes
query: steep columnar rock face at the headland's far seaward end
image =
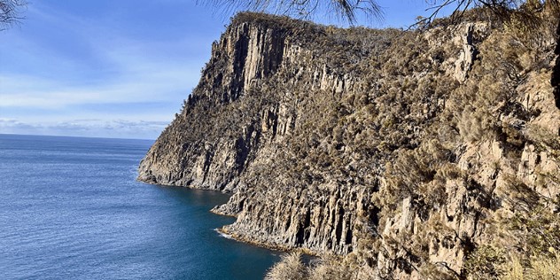
{"label": "steep columnar rock face at the headland's far seaward end", "polygon": [[[183,112],[142,161],[139,179],[233,190],[235,178],[247,166],[247,159],[254,157],[260,143],[261,128],[255,119],[258,116],[250,114],[262,110],[248,108],[242,112],[245,108],[234,108],[235,102],[282,64],[286,33],[287,30],[250,22],[230,27],[221,41],[214,43],[211,61],[198,88],[185,101]],[[221,112],[229,109],[240,112]]]}

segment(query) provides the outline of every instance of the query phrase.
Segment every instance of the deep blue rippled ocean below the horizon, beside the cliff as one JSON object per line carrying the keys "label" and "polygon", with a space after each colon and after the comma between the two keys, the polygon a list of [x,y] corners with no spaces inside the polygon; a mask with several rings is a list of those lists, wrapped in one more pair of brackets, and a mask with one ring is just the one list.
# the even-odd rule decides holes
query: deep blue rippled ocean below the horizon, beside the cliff
{"label": "deep blue rippled ocean below the horizon, beside the cliff", "polygon": [[222,193],[136,182],[152,141],[0,135],[0,279],[261,279]]}

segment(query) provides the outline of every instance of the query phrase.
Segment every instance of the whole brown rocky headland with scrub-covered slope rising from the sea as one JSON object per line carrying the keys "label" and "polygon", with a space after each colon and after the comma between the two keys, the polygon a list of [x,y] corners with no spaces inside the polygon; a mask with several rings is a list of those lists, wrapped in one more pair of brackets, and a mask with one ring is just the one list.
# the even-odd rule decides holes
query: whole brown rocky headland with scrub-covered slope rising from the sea
{"label": "whole brown rocky headland with scrub-covered slope rising from the sea", "polygon": [[232,191],[224,231],[334,253],[323,277],[497,277],[553,258],[557,19],[528,36],[476,14],[415,31],[238,14],[139,179]]}

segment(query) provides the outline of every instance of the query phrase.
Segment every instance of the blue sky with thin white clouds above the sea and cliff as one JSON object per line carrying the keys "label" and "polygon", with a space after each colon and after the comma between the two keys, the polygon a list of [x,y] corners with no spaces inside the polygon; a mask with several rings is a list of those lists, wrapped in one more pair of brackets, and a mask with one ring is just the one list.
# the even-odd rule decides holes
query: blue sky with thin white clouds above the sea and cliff
{"label": "blue sky with thin white clouds above the sea and cliff", "polygon": [[[385,19],[371,27],[429,13],[421,0],[378,2]],[[0,133],[155,139],[232,15],[214,10],[194,0],[30,1],[26,19],[0,31]]]}

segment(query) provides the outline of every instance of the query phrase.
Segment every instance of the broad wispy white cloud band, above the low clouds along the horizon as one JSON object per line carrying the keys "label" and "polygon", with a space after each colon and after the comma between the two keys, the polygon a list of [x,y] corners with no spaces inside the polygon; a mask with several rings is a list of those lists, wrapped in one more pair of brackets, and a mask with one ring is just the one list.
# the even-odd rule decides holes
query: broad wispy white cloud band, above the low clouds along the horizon
{"label": "broad wispy white cloud band, above the low clouds along the horizon", "polygon": [[[149,67],[145,67],[149,68]],[[26,75],[0,74],[0,107],[63,109],[81,104],[176,102],[188,96],[199,71],[191,67],[123,74],[118,81],[82,86]]]}

